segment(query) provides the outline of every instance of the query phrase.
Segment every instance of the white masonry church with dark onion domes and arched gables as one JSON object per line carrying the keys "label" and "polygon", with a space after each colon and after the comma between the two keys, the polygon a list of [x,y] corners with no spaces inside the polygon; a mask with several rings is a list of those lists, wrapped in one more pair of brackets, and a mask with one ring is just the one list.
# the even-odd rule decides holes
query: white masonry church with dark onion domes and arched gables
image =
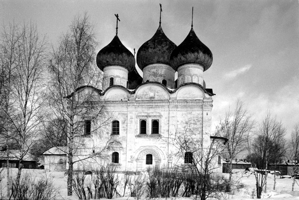
{"label": "white masonry church with dark onion domes and arched gables", "polygon": [[[117,28],[112,41],[96,57],[98,70],[103,72],[102,89],[96,90],[98,98],[113,116],[107,126],[109,136],[121,143],[120,147],[109,150],[106,162],[120,171],[192,164],[192,153],[175,156],[175,145],[169,141],[186,128],[200,139],[201,148],[208,147],[214,137],[211,112],[215,94],[206,88],[204,81],[204,71],[213,61],[212,52],[195,34],[193,16],[190,32],[181,44],[175,45],[162,30],[161,11],[156,33],[140,46],[136,60],[135,53],[121,43]],[[143,77],[135,68],[136,61]],[[92,122],[85,120],[85,134],[91,129]],[[86,144],[99,140],[93,134],[88,135]],[[93,152],[94,146],[89,148]],[[53,147],[43,155],[46,170],[68,168],[67,156],[59,149]]]}

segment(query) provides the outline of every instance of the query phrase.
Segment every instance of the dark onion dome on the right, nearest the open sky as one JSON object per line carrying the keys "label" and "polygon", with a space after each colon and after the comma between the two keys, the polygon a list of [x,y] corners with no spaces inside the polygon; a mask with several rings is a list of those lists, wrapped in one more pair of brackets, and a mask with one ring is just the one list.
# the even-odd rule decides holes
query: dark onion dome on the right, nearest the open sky
{"label": "dark onion dome on the right, nearest the open sky", "polygon": [[211,67],[213,55],[209,48],[202,43],[191,28],[185,40],[173,50],[170,63],[173,69],[188,63],[197,63],[204,67],[204,71]]}

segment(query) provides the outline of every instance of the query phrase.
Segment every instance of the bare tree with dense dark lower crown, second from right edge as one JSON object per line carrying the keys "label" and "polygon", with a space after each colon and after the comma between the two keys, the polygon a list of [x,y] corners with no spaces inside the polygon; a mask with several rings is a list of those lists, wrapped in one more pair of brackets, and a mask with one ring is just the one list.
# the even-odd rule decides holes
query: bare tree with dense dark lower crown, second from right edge
{"label": "bare tree with dense dark lower crown, second from right edge", "polygon": [[257,198],[261,198],[262,189],[267,188],[267,175],[268,164],[274,162],[273,155],[277,154],[275,144],[284,140],[285,128],[281,121],[278,121],[276,117],[272,117],[268,111],[264,120],[259,126],[257,136],[250,144],[249,142],[249,158],[251,161],[255,161],[259,168],[259,173],[255,172],[256,178],[256,194]]}

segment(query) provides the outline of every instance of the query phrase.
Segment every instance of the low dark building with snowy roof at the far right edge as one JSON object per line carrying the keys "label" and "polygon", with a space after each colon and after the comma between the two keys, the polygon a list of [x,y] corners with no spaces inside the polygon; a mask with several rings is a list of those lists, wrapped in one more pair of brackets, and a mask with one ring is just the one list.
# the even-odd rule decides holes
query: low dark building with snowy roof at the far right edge
{"label": "low dark building with snowy roof at the far right edge", "polygon": [[268,169],[279,171],[281,173],[281,176],[292,176],[294,173],[299,172],[299,163],[298,161],[281,160],[280,162],[276,163],[276,165],[274,163],[269,164]]}

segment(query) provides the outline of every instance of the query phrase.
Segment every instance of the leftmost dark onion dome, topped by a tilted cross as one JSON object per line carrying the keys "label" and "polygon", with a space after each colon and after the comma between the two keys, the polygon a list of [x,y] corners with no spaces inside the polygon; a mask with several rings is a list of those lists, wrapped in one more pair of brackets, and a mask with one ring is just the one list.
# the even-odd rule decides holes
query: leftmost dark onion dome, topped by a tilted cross
{"label": "leftmost dark onion dome, topped by a tilted cross", "polygon": [[116,35],[107,46],[98,52],[97,65],[102,71],[104,67],[117,65],[130,72],[135,68],[135,58]]}

